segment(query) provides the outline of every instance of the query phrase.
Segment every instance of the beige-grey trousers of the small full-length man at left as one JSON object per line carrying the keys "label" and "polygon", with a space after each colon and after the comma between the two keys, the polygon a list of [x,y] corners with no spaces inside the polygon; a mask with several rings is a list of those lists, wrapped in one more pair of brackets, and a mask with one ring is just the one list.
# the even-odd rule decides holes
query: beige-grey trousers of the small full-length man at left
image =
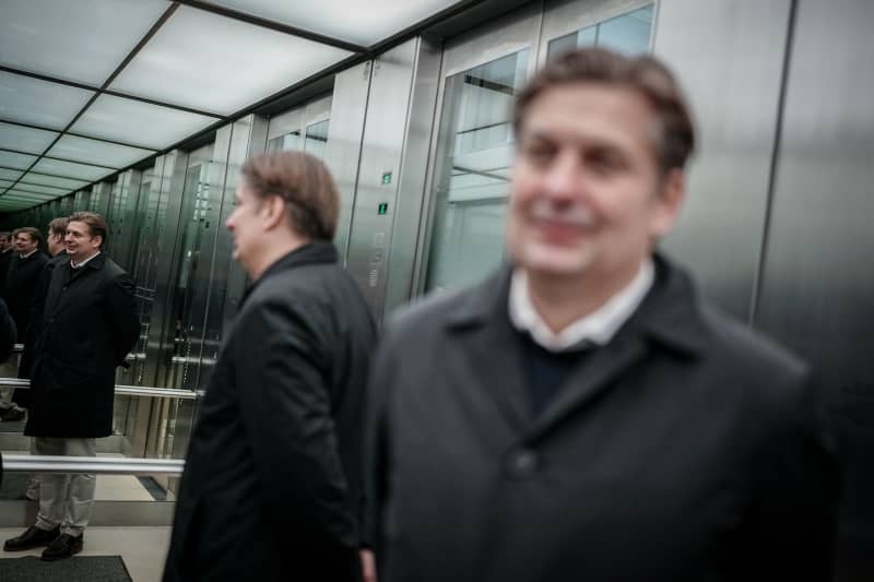
{"label": "beige-grey trousers of the small full-length man at left", "polygon": [[[51,439],[37,437],[38,454],[96,456],[95,439]],[[81,535],[91,518],[94,504],[94,475],[44,473],[39,477],[39,513],[36,526],[52,530],[61,526],[62,534]]]}

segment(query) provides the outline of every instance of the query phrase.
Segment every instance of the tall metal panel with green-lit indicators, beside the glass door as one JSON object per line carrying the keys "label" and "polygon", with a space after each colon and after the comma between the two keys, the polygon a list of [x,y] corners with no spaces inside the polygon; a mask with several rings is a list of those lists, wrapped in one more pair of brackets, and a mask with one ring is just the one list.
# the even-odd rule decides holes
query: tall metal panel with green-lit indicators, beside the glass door
{"label": "tall metal panel with green-lit indicators, beside the glass door", "polygon": [[[373,61],[346,266],[377,320],[385,302],[387,259],[417,47],[418,39],[414,38]],[[378,213],[380,204],[388,204],[383,214]]]}

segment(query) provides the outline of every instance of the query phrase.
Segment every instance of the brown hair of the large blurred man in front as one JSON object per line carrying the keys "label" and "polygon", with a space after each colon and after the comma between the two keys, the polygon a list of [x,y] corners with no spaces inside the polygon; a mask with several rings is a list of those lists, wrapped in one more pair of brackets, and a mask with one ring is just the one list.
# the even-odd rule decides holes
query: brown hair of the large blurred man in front
{"label": "brown hair of the large blurred man in front", "polygon": [[516,134],[520,134],[531,104],[545,91],[580,83],[628,88],[643,97],[659,124],[653,146],[661,171],[683,169],[695,150],[692,116],[674,75],[661,61],[646,55],[627,57],[584,48],[550,61],[519,94],[513,109]]}

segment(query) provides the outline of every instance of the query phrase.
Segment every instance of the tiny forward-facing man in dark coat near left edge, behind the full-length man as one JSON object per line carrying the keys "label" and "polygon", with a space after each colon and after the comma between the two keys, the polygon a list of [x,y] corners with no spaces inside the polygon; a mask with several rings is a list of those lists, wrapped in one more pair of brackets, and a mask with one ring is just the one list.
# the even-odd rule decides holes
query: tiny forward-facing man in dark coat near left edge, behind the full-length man
{"label": "tiny forward-facing man in dark coat near left edge, behind the full-length man", "polygon": [[[31,309],[39,275],[48,262],[48,257],[39,250],[40,242],[43,242],[43,234],[36,228],[25,227],[15,230],[15,253],[10,260],[7,273],[4,298],[9,306],[9,312],[15,321],[15,328],[19,330],[19,340],[22,341],[25,340],[25,332],[31,320]],[[14,391],[4,388],[1,392],[0,418],[5,421],[24,418],[24,411],[12,403]]]}

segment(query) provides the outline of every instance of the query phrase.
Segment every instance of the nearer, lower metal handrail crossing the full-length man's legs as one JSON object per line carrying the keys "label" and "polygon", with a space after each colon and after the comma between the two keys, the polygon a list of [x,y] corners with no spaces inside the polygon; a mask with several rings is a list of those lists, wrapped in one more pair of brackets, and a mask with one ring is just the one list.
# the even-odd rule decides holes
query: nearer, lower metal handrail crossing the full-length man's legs
{"label": "nearer, lower metal handrail crossing the full-length man's legs", "polygon": [[3,471],[26,473],[86,473],[90,475],[172,475],[185,468],[181,459],[127,459],[113,456],[51,456],[8,454]]}

